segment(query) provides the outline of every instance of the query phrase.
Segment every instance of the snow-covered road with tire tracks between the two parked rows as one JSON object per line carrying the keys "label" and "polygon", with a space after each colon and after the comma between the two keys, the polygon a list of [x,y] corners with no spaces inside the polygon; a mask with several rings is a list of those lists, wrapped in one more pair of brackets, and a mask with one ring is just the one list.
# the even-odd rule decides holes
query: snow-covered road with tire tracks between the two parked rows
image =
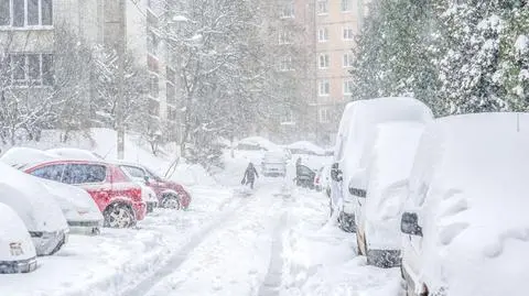
{"label": "snow-covered road with tire tracks between the two parked rows", "polygon": [[1,295],[399,295],[399,271],[366,266],[355,238],[326,226],[326,197],[261,179],[251,196],[194,187],[190,211],[156,210],[139,229],[72,235]]}

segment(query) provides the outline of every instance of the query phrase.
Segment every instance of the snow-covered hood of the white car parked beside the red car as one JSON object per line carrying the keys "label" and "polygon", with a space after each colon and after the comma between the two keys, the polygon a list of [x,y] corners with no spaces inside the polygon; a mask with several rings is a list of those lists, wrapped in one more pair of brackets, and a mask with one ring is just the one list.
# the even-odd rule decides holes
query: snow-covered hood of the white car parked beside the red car
{"label": "snow-covered hood of the white car parked beside the red car", "polygon": [[102,220],[102,215],[90,195],[78,187],[58,182],[39,179],[53,196],[68,221]]}

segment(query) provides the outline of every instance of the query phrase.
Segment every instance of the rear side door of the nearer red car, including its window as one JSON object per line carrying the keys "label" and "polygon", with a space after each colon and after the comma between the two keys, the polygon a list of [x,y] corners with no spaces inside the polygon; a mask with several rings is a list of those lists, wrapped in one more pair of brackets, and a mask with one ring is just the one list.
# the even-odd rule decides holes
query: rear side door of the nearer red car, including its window
{"label": "rear side door of the nearer red car, including its window", "polygon": [[112,198],[112,188],[107,179],[107,167],[99,164],[68,164],[63,183],[85,189],[104,211]]}

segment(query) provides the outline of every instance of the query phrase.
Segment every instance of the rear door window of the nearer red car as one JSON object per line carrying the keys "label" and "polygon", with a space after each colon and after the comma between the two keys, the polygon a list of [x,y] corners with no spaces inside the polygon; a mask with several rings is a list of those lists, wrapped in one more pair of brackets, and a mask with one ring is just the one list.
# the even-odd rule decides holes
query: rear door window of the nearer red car
{"label": "rear door window of the nearer red car", "polygon": [[107,167],[98,164],[69,164],[63,174],[63,183],[90,184],[104,183]]}

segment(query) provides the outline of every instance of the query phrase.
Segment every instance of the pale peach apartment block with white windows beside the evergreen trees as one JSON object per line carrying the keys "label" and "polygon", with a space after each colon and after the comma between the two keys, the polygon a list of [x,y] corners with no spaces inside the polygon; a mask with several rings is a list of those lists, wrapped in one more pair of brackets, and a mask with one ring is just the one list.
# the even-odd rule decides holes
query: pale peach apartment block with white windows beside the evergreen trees
{"label": "pale peach apartment block with white windows beside the evergreen trees", "polygon": [[349,100],[355,36],[360,15],[357,0],[315,0],[316,101],[321,142],[331,142],[345,103]]}

